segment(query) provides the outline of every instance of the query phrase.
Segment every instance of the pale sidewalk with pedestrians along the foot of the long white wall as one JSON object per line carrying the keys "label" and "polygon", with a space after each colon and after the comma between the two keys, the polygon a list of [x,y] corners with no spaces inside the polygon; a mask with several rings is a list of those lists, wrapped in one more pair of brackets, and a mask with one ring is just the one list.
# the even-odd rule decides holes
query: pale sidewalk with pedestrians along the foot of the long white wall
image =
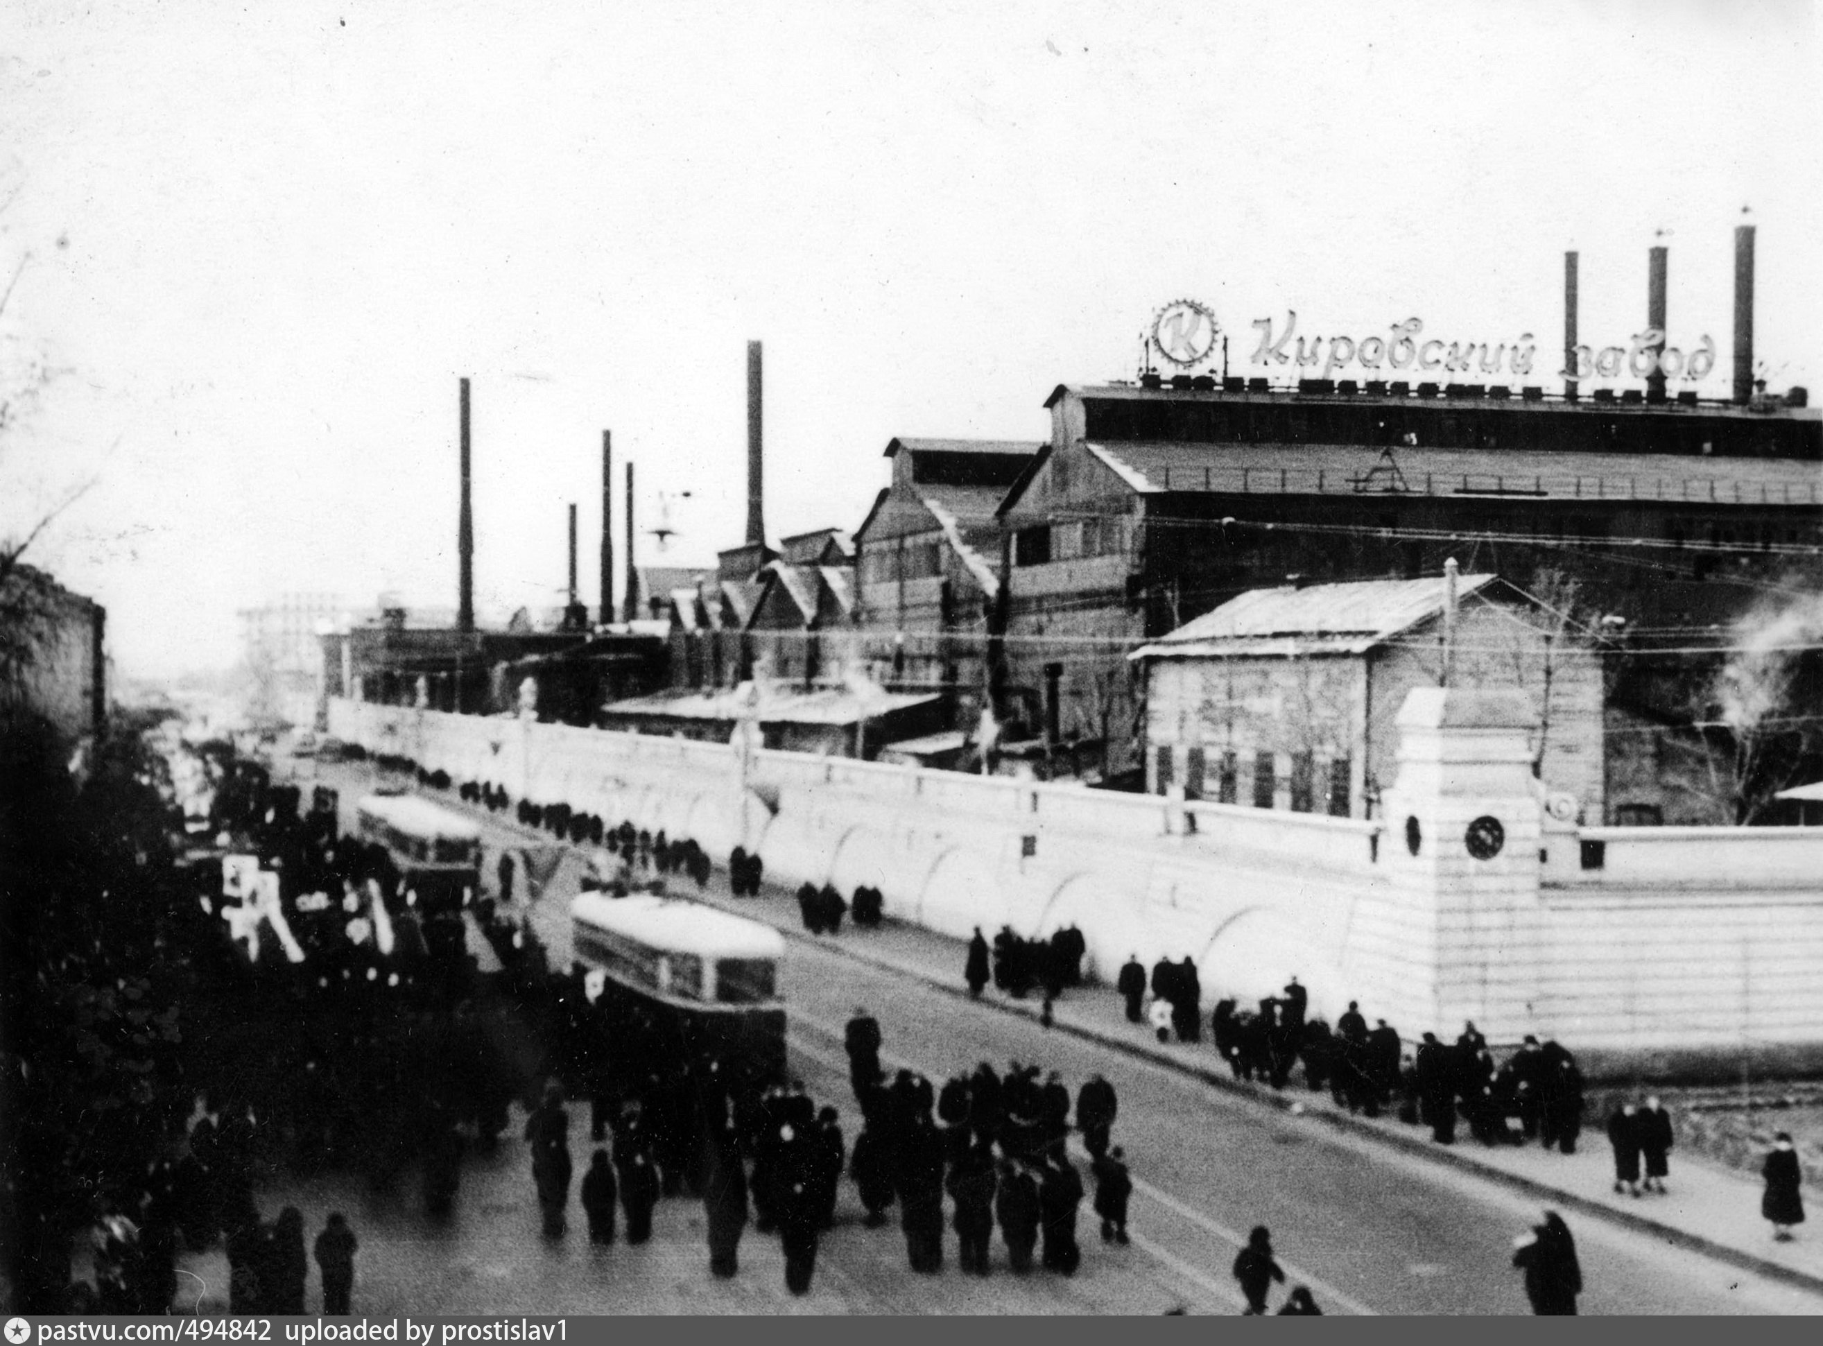
{"label": "pale sidewalk with pedestrians along the foot of the long white wall", "polygon": [[[735,899],[715,888],[707,894],[696,894],[693,885],[676,892],[766,921],[788,939],[815,943],[859,963],[917,978],[957,998],[968,996],[968,989],[963,985],[968,945],[963,939],[899,921],[888,921],[877,930],[857,930],[844,921],[839,936],[811,936],[798,921],[793,897],[767,892],[758,899]],[[977,1003],[1004,1014],[1037,1020],[1043,999],[1039,996],[1012,999],[988,987]],[[1460,1127],[1455,1145],[1438,1145],[1431,1140],[1427,1127],[1404,1125],[1396,1118],[1369,1120],[1336,1107],[1327,1092],[1313,1092],[1303,1087],[1302,1069],[1293,1076],[1294,1085],[1276,1092],[1267,1085],[1232,1078],[1227,1063],[1207,1040],[1200,1045],[1159,1043],[1148,1027],[1127,1021],[1121,998],[1107,987],[1066,990],[1052,1005],[1052,1027],[1194,1074],[1216,1089],[1245,1094],[1271,1107],[1296,1109],[1303,1116],[1320,1118],[1356,1134],[1420,1153],[1440,1164],[1504,1182],[1531,1193],[1540,1204],[1606,1217],[1734,1266],[1807,1289],[1823,1289],[1823,1238],[1807,1237],[1810,1226],[1799,1226],[1794,1242],[1774,1242],[1772,1226],[1759,1217],[1759,1184],[1703,1158],[1692,1158],[1674,1149],[1672,1175],[1666,1180],[1668,1195],[1621,1196],[1613,1193],[1613,1158],[1608,1138],[1599,1125],[1584,1127],[1575,1154],[1548,1154],[1535,1144],[1486,1147]]]}

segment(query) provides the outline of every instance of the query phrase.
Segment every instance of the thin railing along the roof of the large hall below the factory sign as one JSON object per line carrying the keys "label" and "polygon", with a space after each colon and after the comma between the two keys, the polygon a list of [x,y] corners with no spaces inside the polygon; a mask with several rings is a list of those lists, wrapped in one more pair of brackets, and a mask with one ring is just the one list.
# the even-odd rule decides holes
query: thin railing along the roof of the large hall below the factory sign
{"label": "thin railing along the roof of the large hall below the factory sign", "polygon": [[1819,481],[1741,483],[1723,478],[1679,476],[1544,476],[1531,472],[1413,472],[1382,467],[1340,472],[1296,467],[1167,467],[1165,491],[1231,494],[1340,494],[1340,496],[1519,496],[1551,500],[1666,500],[1723,505],[1818,505]]}

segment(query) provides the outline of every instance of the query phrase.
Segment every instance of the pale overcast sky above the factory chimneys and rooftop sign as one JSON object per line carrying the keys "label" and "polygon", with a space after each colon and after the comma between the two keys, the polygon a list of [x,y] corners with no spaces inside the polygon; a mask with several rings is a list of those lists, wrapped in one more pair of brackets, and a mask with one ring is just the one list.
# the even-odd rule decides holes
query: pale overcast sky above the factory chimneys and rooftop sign
{"label": "pale overcast sky above the factory chimneys and rooftop sign", "polygon": [[[986,11],[986,13],[977,13]],[[600,432],[642,562],[746,513],[766,343],[773,536],[853,527],[897,436],[1037,441],[1065,381],[1210,303],[1373,334],[1643,326],[1725,394],[1732,230],[1757,350],[1816,388],[1808,4],[427,4],[11,0],[0,44],[0,536],[109,609],[128,673],[228,664],[237,607],[456,596],[474,379],[483,607],[561,602]],[[1236,370],[1240,372],[1240,370]],[[620,534],[616,505],[616,544]]]}

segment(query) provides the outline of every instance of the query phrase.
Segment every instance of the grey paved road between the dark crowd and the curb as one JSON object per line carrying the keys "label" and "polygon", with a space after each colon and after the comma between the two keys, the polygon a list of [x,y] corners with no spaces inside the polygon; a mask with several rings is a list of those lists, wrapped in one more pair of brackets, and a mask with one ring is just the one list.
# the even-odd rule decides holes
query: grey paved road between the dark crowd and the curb
{"label": "grey paved road between the dark crowd and the curb", "polygon": [[[324,775],[359,779],[352,768]],[[354,790],[345,790],[345,801]],[[494,848],[527,833],[489,819]],[[574,863],[565,861],[532,908],[552,965],[569,961],[569,897]],[[722,886],[722,875],[715,879]],[[793,905],[769,894],[764,903]],[[795,905],[793,905],[795,906]],[[890,1065],[933,1080],[977,1060],[1057,1069],[1072,1092],[1090,1072],[1119,1091],[1116,1140],[1138,1180],[1134,1246],[1105,1248],[1085,1202],[1083,1271],[1074,1280],[995,1275],[972,1282],[953,1269],[939,1280],[904,1264],[897,1231],[860,1229],[853,1189],[846,1220],[819,1262],[819,1295],[833,1311],[1236,1311],[1229,1277],[1238,1240],[1254,1224],[1272,1229],[1293,1280],[1313,1288],[1331,1313],[1522,1313],[1511,1240],[1539,1218],[1531,1198],[1420,1156],[1245,1098],[1210,1089],[1108,1047],[975,1007],[828,948],[793,941],[782,992],[791,1010],[793,1067],[819,1100],[850,1122],[840,1030],[857,1003],[886,1034]],[[700,1215],[700,1213],[698,1213]],[[1601,1220],[1571,1218],[1588,1291],[1586,1313],[1818,1313],[1810,1295]],[[773,1244],[773,1240],[749,1242]],[[953,1258],[953,1240],[950,1246]],[[777,1257],[777,1248],[771,1248]],[[995,1248],[999,1264],[1004,1251]],[[746,1277],[744,1277],[746,1279]],[[1278,1302],[1278,1297],[1274,1297]]]}

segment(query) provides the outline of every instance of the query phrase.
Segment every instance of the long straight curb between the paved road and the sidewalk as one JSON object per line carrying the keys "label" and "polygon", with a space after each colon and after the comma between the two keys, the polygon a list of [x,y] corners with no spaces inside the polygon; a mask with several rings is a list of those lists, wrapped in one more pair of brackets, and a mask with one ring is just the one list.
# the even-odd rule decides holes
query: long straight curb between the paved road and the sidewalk
{"label": "long straight curb between the paved road and the sidewalk", "polygon": [[[771,925],[771,921],[767,921],[767,925]],[[935,978],[928,972],[919,972],[915,968],[902,967],[875,954],[864,954],[860,950],[848,948],[833,939],[826,941],[817,936],[802,934],[798,930],[786,930],[780,927],[773,928],[778,930],[786,939],[795,939],[798,943],[815,945],[817,948],[826,948],[829,952],[850,958],[855,963],[864,963],[881,972],[891,972],[895,976],[912,978],[913,981],[921,981],[926,987],[941,990],[946,996],[952,996],[953,999],[964,999],[972,1005],[984,1005],[988,1009],[999,1010],[1001,1014],[1012,1014],[1015,1018],[1025,1018],[1032,1021],[1037,1021],[1039,1018],[1037,1010],[1030,1009],[1025,1001],[1008,1001],[999,996],[992,999],[983,996],[977,999],[970,996],[968,990],[964,990],[963,987],[952,985],[942,978]],[[1054,1018],[1050,1027],[1054,1032],[1068,1032],[1074,1038],[1092,1041],[1099,1047],[1125,1052],[1127,1056],[1138,1056],[1145,1061],[1150,1061],[1152,1065],[1159,1065],[1167,1071],[1190,1076],[1192,1080],[1200,1080],[1201,1083],[1234,1094],[1236,1098],[1247,1098],[1256,1103],[1276,1107],[1280,1113],[1291,1113],[1293,1105],[1300,1102],[1272,1091],[1252,1089],[1243,1082],[1234,1080],[1227,1074],[1179,1061],[1167,1052],[1152,1051],[1143,1041],[1127,1041],[1101,1029],[1090,1029],[1079,1023],[1068,1023],[1061,1018]],[[1730,1266],[1737,1266],[1745,1271],[1754,1271],[1756,1275],[1766,1277],[1768,1280],[1779,1280],[1788,1286],[1796,1286],[1799,1289],[1823,1291],[1823,1277],[1819,1275],[1799,1271],[1796,1268],[1785,1266],[1783,1262],[1766,1260],[1763,1257],[1757,1257],[1756,1253],[1746,1253],[1739,1248],[1732,1248],[1730,1244],[1719,1244],[1712,1238],[1705,1238],[1703,1235],[1694,1235],[1688,1229],[1679,1229],[1677,1226],[1672,1224],[1663,1224],[1646,1215],[1633,1215],[1632,1211],[1617,1211],[1612,1206],[1590,1200],[1588,1196],[1566,1191],[1562,1187],[1553,1187],[1546,1182],[1539,1182],[1537,1178],[1528,1178],[1519,1173],[1508,1173],[1506,1169],[1497,1169],[1489,1164],[1478,1164],[1475,1158],[1453,1147],[1435,1145],[1418,1136],[1407,1136],[1396,1131],[1384,1131],[1349,1113],[1334,1111],[1329,1107],[1314,1107],[1314,1109],[1305,1107],[1302,1113],[1298,1113],[1298,1116],[1325,1122],[1333,1125],[1336,1131],[1347,1131],[1349,1134],[1365,1140],[1375,1140],[1382,1145],[1391,1145],[1393,1149],[1402,1149],[1407,1154],[1444,1164],[1460,1173],[1471,1173],[1478,1178],[1504,1184],[1508,1187],[1513,1187],[1515,1191],[1526,1193],[1528,1196],[1535,1196],[1540,1200],[1548,1200],[1553,1206],[1573,1209],[1579,1215],[1590,1215],[1601,1220],[1608,1220],[1610,1224],[1624,1226],[1628,1229],[1633,1229],[1635,1233],[1644,1233],[1652,1235],[1653,1238],[1663,1238],[1664,1242],[1675,1248],[1683,1248],[1692,1253],[1701,1253],[1705,1257],[1715,1258],[1717,1262],[1728,1262]]]}

